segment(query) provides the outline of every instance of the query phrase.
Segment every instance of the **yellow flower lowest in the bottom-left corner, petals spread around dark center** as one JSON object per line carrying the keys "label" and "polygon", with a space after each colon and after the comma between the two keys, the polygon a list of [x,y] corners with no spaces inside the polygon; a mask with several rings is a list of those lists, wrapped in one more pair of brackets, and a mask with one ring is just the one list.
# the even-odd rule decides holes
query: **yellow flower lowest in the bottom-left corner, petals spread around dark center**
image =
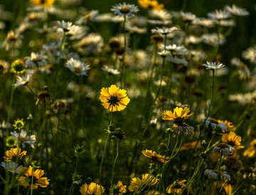
{"label": "yellow flower lowest in the bottom-left corner, petals spread around dark center", "polygon": [[21,182],[21,185],[24,187],[29,186],[31,188],[32,176],[33,176],[33,189],[38,189],[38,186],[47,187],[50,179],[47,177],[42,177],[44,174],[42,169],[34,170],[33,167],[29,166],[25,174],[21,177],[18,177],[18,181]]}

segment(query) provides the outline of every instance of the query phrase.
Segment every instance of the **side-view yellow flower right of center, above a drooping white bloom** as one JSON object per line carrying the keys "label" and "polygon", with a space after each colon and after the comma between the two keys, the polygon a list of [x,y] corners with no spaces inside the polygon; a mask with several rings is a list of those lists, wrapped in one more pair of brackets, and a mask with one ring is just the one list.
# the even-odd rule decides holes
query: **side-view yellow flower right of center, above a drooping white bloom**
{"label": "side-view yellow flower right of center, above a drooping white bloom", "polygon": [[174,108],[174,112],[164,111],[163,120],[174,121],[174,123],[182,123],[184,119],[193,114],[193,112],[189,113],[190,111],[191,110],[188,107],[176,107]]}

